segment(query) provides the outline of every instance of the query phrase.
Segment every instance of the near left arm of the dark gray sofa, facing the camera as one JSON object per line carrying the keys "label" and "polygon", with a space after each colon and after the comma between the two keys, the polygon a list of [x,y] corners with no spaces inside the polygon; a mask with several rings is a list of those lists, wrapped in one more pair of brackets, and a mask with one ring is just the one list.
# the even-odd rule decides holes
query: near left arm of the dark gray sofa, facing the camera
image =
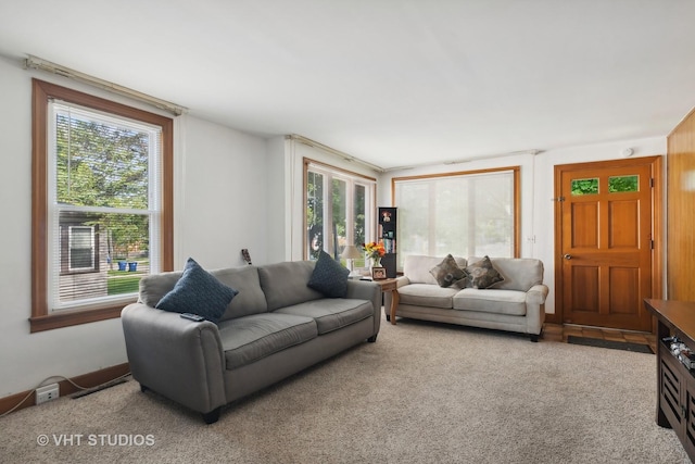
{"label": "near left arm of the dark gray sofa, facing the camera", "polygon": [[132,377],[203,414],[226,404],[225,356],[217,326],[142,303],[129,304],[121,321]]}

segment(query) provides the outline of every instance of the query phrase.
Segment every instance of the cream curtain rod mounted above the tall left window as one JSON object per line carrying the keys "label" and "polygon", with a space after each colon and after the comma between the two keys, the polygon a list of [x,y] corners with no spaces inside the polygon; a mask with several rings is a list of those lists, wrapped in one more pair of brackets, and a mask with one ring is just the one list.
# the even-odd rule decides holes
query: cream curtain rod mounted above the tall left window
{"label": "cream curtain rod mounted above the tall left window", "polygon": [[26,60],[24,60],[24,67],[46,71],[48,73],[78,80],[80,83],[88,84],[92,87],[98,87],[113,93],[129,97],[135,100],[151,104],[152,106],[159,108],[161,110],[168,111],[169,113],[173,113],[177,116],[188,111],[187,108],[180,106],[176,103],[172,103],[169,101],[162,100],[137,90],[132,90],[128,87],[119,86],[118,84],[110,83],[109,80],[100,79],[99,77],[90,76],[89,74],[80,73],[79,71],[71,70],[70,67],[65,67],[60,64],[51,63],[50,61],[30,54]]}

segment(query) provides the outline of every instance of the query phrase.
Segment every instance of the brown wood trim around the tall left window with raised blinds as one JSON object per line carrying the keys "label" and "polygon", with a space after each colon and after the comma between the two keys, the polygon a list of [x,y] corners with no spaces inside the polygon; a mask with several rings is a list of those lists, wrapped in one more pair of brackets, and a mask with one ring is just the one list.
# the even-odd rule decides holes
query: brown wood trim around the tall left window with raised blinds
{"label": "brown wood trim around the tall left window with raised blinds", "polygon": [[119,317],[123,304],[54,314],[48,306],[48,104],[59,99],[162,127],[162,271],[174,268],[174,122],[159,114],[31,79],[31,317],[30,331]]}

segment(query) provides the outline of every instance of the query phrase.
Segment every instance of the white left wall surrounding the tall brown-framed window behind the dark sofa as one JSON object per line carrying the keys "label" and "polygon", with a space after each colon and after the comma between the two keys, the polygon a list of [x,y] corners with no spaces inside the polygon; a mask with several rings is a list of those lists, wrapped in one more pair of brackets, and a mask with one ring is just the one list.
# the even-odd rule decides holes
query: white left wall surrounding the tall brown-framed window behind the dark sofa
{"label": "white left wall surrounding the tall brown-framed window behind the dark sofa", "polygon": [[[33,76],[124,101],[0,58],[0,398],[127,361],[118,318],[29,334]],[[175,266],[189,255],[242,265],[241,248],[265,262],[266,141],[191,116],[175,124]]]}

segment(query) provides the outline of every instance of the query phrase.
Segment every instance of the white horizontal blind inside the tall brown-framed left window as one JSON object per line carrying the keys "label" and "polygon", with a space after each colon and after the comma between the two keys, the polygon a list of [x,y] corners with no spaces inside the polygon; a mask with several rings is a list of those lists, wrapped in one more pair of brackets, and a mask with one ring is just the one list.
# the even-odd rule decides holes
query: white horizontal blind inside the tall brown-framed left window
{"label": "white horizontal blind inside the tall brown-framed left window", "polygon": [[49,104],[50,311],[132,300],[160,272],[161,128]]}

